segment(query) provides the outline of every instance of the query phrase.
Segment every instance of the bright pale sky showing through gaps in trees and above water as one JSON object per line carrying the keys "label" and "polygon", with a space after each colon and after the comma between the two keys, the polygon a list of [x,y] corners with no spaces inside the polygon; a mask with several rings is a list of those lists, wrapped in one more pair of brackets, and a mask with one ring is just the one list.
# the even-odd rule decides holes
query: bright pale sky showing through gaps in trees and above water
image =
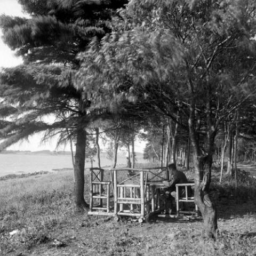
{"label": "bright pale sky showing through gaps in trees and above water", "polygon": [[[0,0],[0,15],[12,15],[19,17],[28,17],[26,13],[22,12],[21,5],[19,5],[17,0]],[[14,67],[20,65],[22,63],[22,59],[15,56],[15,52],[11,51],[7,45],[4,44],[2,40],[2,31],[0,29],[0,70],[4,67]],[[15,143],[10,146],[9,150],[55,150],[55,145],[57,142],[57,138],[53,138],[51,141],[46,143],[41,143],[41,138],[43,137],[43,133],[38,133],[33,136],[30,136],[28,140],[21,141]],[[144,141],[135,141],[135,151],[142,152],[145,147]],[[69,146],[60,147],[58,150],[69,150]]]}

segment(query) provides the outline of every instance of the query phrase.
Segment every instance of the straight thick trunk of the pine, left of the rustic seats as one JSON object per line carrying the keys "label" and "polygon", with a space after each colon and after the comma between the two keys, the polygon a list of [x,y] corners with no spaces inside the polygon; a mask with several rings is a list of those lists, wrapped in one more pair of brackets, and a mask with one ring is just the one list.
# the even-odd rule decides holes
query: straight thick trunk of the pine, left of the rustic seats
{"label": "straight thick trunk of the pine, left of the rustic seats", "polygon": [[84,200],[84,162],[85,162],[86,132],[77,126],[76,153],[74,163],[74,194],[75,203],[79,208],[88,208]]}

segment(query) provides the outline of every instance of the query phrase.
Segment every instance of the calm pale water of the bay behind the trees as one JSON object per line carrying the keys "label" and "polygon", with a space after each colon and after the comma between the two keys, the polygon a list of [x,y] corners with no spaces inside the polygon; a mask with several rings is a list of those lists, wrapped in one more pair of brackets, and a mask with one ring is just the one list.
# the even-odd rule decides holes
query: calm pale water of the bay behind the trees
{"label": "calm pale water of the bay behind the trees", "polygon": [[[141,156],[137,158],[138,162],[145,162]],[[126,164],[125,155],[118,156],[117,164]],[[97,166],[97,162],[94,162],[93,166]],[[101,157],[101,166],[111,166],[111,161],[105,154]],[[91,163],[86,162],[85,167],[91,167]],[[61,168],[73,168],[71,155],[0,154],[0,176]]]}

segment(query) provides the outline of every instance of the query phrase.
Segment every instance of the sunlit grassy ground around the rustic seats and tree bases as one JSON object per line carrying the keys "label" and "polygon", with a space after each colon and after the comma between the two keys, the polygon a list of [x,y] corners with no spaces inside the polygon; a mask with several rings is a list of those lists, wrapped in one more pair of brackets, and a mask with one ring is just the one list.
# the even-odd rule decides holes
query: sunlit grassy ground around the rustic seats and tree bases
{"label": "sunlit grassy ground around the rustic seats and tree bases", "polygon": [[0,181],[0,255],[256,255],[255,184],[239,178],[237,196],[232,180],[213,182],[216,241],[202,237],[201,220],[87,217],[72,203],[70,171]]}

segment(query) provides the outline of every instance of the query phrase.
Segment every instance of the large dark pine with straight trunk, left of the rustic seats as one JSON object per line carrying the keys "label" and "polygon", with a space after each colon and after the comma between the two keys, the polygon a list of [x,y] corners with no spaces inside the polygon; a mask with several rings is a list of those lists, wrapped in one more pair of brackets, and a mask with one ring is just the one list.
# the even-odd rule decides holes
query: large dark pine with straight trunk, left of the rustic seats
{"label": "large dark pine with straight trunk, left of the rustic seats", "polygon": [[[85,128],[94,112],[87,111],[92,108],[91,95],[74,85],[73,75],[79,67],[76,56],[93,37],[101,38],[111,31],[111,15],[126,1],[20,0],[19,3],[31,18],[0,17],[4,42],[24,60],[24,65],[5,69],[1,74],[2,104],[15,107],[12,122],[1,130],[5,138],[1,148],[38,131],[47,130],[46,138],[60,133],[60,140],[68,137],[67,130],[73,132],[75,202],[78,207],[87,207]],[[57,121],[47,124],[40,119],[47,115],[54,115]]]}

